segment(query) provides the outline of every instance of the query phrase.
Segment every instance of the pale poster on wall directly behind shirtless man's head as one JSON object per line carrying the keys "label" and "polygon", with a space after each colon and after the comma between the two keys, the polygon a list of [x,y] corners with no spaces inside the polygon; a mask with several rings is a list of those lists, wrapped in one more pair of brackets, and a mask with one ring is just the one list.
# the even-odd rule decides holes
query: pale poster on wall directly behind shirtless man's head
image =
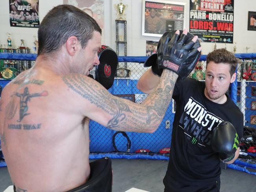
{"label": "pale poster on wall directly behind shirtless man's head", "polygon": [[63,0],[63,4],[78,7],[91,17],[100,26],[101,30],[104,28],[104,1],[103,0]]}

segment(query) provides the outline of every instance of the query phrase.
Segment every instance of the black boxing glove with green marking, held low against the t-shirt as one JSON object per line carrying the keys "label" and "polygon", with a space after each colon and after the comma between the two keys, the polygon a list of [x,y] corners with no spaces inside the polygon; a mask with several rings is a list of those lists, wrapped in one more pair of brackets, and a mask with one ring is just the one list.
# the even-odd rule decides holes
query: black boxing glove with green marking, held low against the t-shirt
{"label": "black boxing glove with green marking, held low against the t-shirt", "polygon": [[239,147],[239,138],[235,127],[230,122],[221,122],[213,129],[211,136],[211,148],[219,153],[223,162],[234,159]]}

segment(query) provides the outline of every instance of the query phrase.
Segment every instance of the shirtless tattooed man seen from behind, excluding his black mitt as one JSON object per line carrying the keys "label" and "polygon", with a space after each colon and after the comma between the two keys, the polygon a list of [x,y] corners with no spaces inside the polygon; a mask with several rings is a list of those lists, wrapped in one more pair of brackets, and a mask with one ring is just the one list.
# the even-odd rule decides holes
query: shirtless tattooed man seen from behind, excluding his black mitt
{"label": "shirtless tattooed man seen from behind, excluding his black mitt", "polygon": [[[35,65],[2,91],[2,150],[16,191],[63,192],[90,182],[89,119],[113,130],[153,133],[178,75],[164,69],[142,104],[111,95],[88,77],[99,64],[100,27],[74,6],[50,10],[38,40]],[[90,191],[106,191],[102,187]]]}

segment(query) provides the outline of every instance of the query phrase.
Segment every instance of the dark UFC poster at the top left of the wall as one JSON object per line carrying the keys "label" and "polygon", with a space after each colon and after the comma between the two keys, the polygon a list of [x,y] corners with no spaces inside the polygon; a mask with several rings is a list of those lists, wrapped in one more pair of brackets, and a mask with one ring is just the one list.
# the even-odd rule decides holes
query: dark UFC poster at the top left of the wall
{"label": "dark UFC poster at the top left of the wall", "polygon": [[39,0],[9,0],[11,27],[38,28]]}

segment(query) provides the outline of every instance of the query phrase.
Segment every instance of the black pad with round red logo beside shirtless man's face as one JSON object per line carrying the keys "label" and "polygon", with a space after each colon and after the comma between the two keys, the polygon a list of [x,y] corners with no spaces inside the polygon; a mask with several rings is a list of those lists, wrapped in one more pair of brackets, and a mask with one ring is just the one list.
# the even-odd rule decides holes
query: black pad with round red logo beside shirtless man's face
{"label": "black pad with round red logo beside shirtless man's face", "polygon": [[109,46],[102,45],[98,51],[100,64],[90,71],[89,77],[98,81],[106,89],[112,87],[117,70],[118,57]]}

